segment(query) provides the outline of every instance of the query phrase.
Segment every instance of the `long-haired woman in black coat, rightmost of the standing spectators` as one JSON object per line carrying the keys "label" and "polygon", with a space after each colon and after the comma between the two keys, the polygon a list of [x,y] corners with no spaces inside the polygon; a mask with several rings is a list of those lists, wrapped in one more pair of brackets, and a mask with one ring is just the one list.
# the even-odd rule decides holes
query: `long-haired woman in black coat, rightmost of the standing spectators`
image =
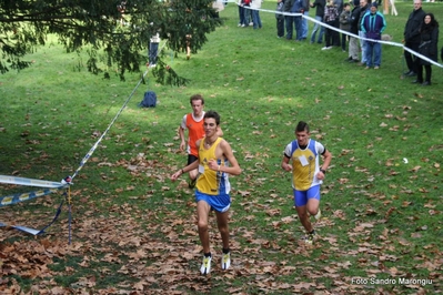
{"label": "long-haired woman in black coat, rightmost of the standing spectators", "polygon": [[[437,61],[439,48],[439,22],[435,20],[433,13],[425,13],[423,23],[420,27],[420,45],[419,53],[430,60]],[[415,59],[416,80],[412,83],[421,83],[423,87],[431,85],[431,63],[420,58]],[[423,82],[423,67],[426,72],[425,81]]]}

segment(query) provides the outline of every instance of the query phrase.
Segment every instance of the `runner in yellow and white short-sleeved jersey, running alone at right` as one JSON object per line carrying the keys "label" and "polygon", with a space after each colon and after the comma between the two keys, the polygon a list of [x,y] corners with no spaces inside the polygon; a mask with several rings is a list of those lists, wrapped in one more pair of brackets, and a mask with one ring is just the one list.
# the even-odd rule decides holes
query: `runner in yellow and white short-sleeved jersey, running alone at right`
{"label": "runner in yellow and white short-sleeved jersey, running alone at right", "polygon": [[[310,135],[308,123],[300,121],[295,128],[296,140],[286,145],[282,160],[282,169],[292,171],[295,208],[300,222],[308,232],[305,236],[308,244],[312,244],[315,234],[308,213],[316,220],[320,218],[320,184],[332,159],[332,154],[323,144],[311,140]],[[322,166],[319,164],[319,155],[323,156]]]}

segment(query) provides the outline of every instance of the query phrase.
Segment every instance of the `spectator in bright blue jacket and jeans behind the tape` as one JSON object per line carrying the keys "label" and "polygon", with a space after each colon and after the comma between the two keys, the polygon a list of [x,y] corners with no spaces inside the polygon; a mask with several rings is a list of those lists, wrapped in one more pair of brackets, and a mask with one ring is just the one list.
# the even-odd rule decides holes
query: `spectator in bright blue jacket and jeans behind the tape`
{"label": "spectator in bright blue jacket and jeans behind the tape", "polygon": [[372,2],[371,10],[362,19],[364,37],[371,39],[371,41],[366,41],[366,70],[372,65],[377,70],[382,62],[382,44],[379,41],[382,40],[382,33],[386,29],[386,20],[383,13],[377,11],[377,8],[379,4]]}

